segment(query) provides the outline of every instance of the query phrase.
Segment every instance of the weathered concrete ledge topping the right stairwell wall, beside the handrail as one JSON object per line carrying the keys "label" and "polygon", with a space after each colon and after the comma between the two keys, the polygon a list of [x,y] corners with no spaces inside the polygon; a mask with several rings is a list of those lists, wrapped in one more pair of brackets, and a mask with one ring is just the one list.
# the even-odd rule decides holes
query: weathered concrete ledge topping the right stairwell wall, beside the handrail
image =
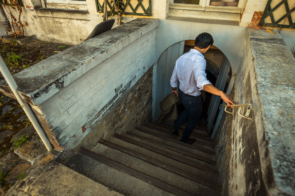
{"label": "weathered concrete ledge topping the right stairwell wall, beside the handrail", "polygon": [[257,130],[270,195],[295,192],[295,58],[280,34],[248,29],[263,129]]}

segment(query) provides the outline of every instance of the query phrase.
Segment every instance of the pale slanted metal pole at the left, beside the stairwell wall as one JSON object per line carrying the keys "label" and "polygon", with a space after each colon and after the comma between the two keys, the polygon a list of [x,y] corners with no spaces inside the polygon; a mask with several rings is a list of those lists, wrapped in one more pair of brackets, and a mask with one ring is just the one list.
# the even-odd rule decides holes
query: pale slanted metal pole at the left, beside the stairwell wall
{"label": "pale slanted metal pole at the left, beside the stairwell wall", "polygon": [[6,82],[8,83],[10,89],[12,90],[14,96],[17,98],[17,101],[19,102],[19,105],[22,107],[24,112],[26,113],[29,120],[32,122],[32,125],[34,126],[35,130],[37,131],[38,135],[40,136],[42,142],[44,143],[45,147],[48,151],[52,149],[49,140],[47,139],[43,129],[41,128],[38,120],[36,119],[34,113],[32,112],[29,104],[22,100],[22,98],[19,96],[17,92],[17,83],[13,79],[11,73],[9,72],[8,68],[6,67],[2,57],[0,58],[0,71],[2,75],[4,76]]}

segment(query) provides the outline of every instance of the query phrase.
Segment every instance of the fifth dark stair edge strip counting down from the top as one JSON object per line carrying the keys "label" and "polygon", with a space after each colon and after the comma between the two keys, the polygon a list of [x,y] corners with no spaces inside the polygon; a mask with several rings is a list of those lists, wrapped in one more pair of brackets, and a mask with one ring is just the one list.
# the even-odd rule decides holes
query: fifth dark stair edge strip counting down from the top
{"label": "fifth dark stair edge strip counting down from the top", "polygon": [[213,151],[214,149],[208,150],[208,149],[205,149],[205,148],[201,148],[199,146],[195,146],[195,145],[191,145],[191,144],[187,144],[187,143],[181,142],[181,141],[179,141],[179,137],[176,137],[174,135],[170,135],[169,133],[166,133],[167,135],[161,135],[161,134],[157,134],[157,133],[154,133],[154,132],[151,132],[151,131],[148,131],[148,130],[145,130],[145,129],[142,129],[142,128],[139,128],[139,127],[137,127],[136,129],[137,130],[140,130],[142,132],[145,132],[145,133],[148,133],[148,134],[157,136],[159,138],[163,138],[163,139],[166,139],[166,140],[169,140],[169,141],[172,141],[172,142],[181,144],[181,145],[185,145],[185,146],[190,147],[190,148],[194,148],[196,150],[203,151],[205,153],[209,153],[209,154],[215,155],[215,152]]}

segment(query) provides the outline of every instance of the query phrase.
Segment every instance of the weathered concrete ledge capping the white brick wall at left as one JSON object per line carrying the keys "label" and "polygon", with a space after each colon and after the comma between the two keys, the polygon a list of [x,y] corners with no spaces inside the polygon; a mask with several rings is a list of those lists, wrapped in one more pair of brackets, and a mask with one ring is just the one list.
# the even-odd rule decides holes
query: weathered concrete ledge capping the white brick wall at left
{"label": "weathered concrete ledge capping the white brick wall at left", "polygon": [[[158,25],[158,19],[135,19],[47,58],[14,75],[18,92],[28,103],[40,105]],[[10,92],[4,80],[0,81],[0,90]]]}

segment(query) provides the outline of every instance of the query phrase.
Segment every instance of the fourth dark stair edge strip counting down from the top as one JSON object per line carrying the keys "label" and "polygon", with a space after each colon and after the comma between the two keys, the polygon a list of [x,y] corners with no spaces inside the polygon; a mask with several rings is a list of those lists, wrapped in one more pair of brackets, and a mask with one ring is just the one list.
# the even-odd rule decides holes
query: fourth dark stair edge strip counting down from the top
{"label": "fourth dark stair edge strip counting down from the top", "polygon": [[156,144],[156,145],[159,145],[159,146],[162,146],[164,148],[167,148],[169,150],[173,150],[175,152],[178,152],[178,153],[182,153],[184,155],[188,155],[192,158],[195,158],[195,159],[198,159],[198,160],[201,160],[201,161],[204,161],[204,162],[207,162],[207,163],[210,163],[212,165],[215,165],[216,164],[216,161],[214,160],[211,160],[211,159],[208,159],[208,158],[205,158],[205,157],[202,157],[202,156],[199,156],[199,155],[196,155],[194,153],[190,153],[190,152],[187,152],[185,150],[182,150],[182,149],[179,149],[179,148],[176,148],[176,147],[173,147],[171,145],[167,145],[167,144],[163,144],[163,143],[160,143],[158,141],[155,141],[155,140],[152,140],[150,138],[146,138],[146,137],[143,137],[141,135],[137,135],[135,133],[131,133],[131,132],[127,132],[127,135],[130,135],[130,136],[133,136],[133,137],[136,137],[136,138],[139,138],[139,139],[142,139],[142,140],[145,140],[145,141],[148,141],[150,143],[153,143],[153,144]]}

